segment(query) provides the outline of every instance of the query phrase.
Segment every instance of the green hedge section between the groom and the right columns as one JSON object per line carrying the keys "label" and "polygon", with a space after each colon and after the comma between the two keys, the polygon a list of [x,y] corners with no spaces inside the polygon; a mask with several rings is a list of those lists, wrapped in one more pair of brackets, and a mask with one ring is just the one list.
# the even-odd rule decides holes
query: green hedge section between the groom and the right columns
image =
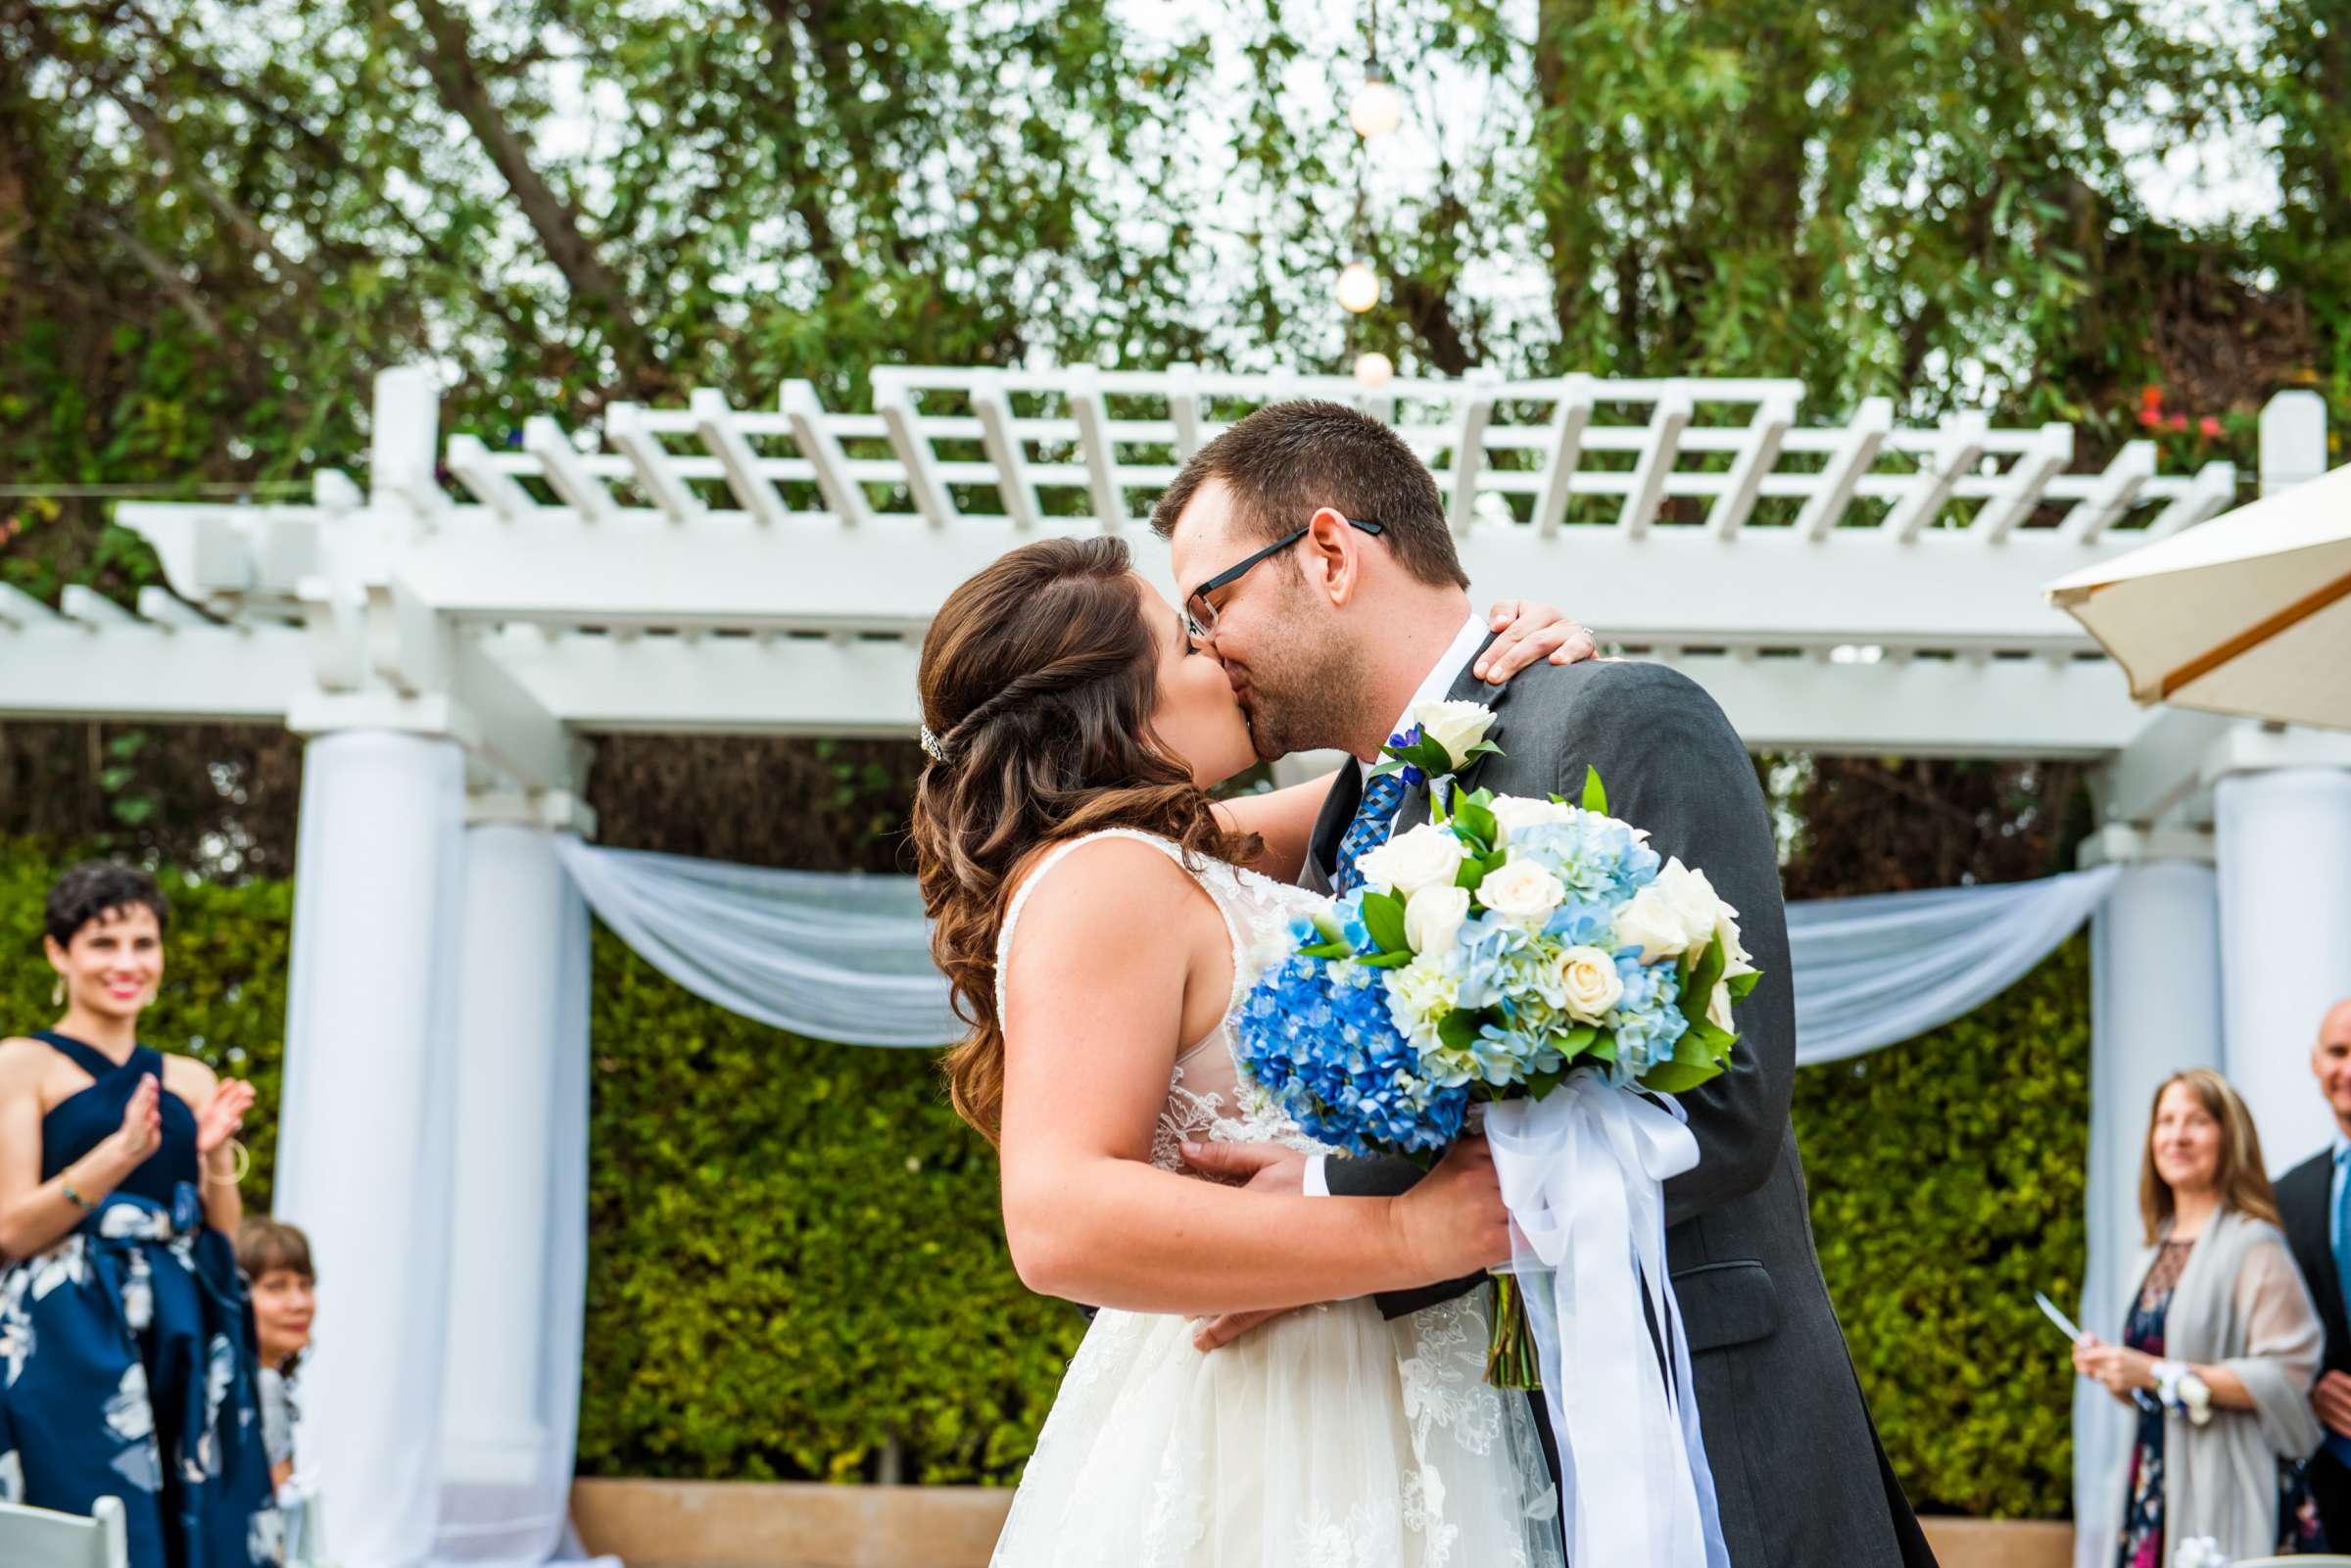
{"label": "green hedge section between the groom and the right columns", "polygon": [[2074,1373],[2034,1291],[2081,1288],[2090,959],[2076,936],[1921,1039],[1796,1074],[1813,1234],[1911,1502],[2071,1514]]}

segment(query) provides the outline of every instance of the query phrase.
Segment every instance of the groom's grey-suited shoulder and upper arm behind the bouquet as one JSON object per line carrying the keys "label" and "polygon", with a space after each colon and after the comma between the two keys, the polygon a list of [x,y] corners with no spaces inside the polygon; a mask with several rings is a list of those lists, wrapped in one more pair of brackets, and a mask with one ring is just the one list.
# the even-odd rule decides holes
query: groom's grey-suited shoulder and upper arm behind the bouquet
{"label": "groom's grey-suited shoulder and upper arm behind the bouquet", "polygon": [[[1681,856],[1740,912],[1763,980],[1740,1001],[1730,1067],[1683,1095],[1697,1168],[1665,1185],[1667,1225],[1763,1185],[1787,1135],[1796,1081],[1796,1011],[1780,898],[1780,849],[1754,757],[1704,686],[1646,661],[1594,661],[1542,672],[1514,693],[1505,729],[1540,731],[1552,785],[1568,799],[1596,769],[1608,813]],[[1523,717],[1521,717],[1523,715]],[[1509,738],[1505,738],[1509,748]]]}

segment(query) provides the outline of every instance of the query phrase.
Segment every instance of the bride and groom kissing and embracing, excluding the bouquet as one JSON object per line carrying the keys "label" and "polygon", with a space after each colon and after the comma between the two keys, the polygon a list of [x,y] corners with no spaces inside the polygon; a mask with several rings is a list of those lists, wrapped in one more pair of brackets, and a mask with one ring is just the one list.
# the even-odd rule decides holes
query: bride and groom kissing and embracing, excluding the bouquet
{"label": "bride and groom kissing and embracing, excluding the bouquet", "polygon": [[[1575,1554],[1545,1401],[1483,1375],[1474,1286],[1512,1258],[1486,1143],[1427,1173],[1333,1157],[1234,1060],[1237,1009],[1295,950],[1293,919],[1429,820],[1425,783],[1371,766],[1382,743],[1476,703],[1502,738],[1481,785],[1573,797],[1596,769],[1610,811],[1707,867],[1763,971],[1728,1070],[1679,1098],[1700,1159],[1665,1182],[1719,1509],[1690,1568],[1930,1566],[1813,1251],[1775,837],[1714,701],[1665,665],[1582,658],[1589,639],[1540,607],[1498,607],[1498,635],[1429,470],[1340,404],[1239,421],[1152,529],[1180,607],[1117,538],[1046,538],[957,588],[922,649],[915,844],[971,1023],[950,1088],[1002,1154],[1020,1279],[1098,1309],[994,1563]],[[1211,799],[1302,750],[1357,762]]]}

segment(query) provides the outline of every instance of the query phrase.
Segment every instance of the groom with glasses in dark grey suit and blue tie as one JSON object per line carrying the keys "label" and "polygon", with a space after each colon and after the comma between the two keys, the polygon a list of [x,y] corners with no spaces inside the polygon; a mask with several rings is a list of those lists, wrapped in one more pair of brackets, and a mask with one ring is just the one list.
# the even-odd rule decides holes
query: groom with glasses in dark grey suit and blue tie
{"label": "groom with glasses in dark grey suit and blue tie", "polygon": [[[1787,1119],[1796,1016],[1780,860],[1728,719],[1697,684],[1653,663],[1535,665],[1507,686],[1476,679],[1469,665],[1488,632],[1469,611],[1436,480],[1394,430],[1354,409],[1284,402],[1251,414],[1185,463],[1152,527],[1171,543],[1194,639],[1225,663],[1258,755],[1359,759],[1324,802],[1307,886],[1347,884],[1357,858],[1429,818],[1425,790],[1366,771],[1418,703],[1467,698],[1495,710],[1505,752],[1472,785],[1573,799],[1594,766],[1613,816],[1646,827],[1660,856],[1702,867],[1740,910],[1763,980],[1740,1004],[1730,1070],[1681,1095],[1700,1161],[1665,1185],[1667,1267],[1730,1563],[1930,1568],[1813,1253]],[[1340,1197],[1418,1180],[1406,1161],[1300,1164],[1239,1147],[1201,1150],[1194,1164]],[[1399,1316],[1474,1284],[1380,1307]]]}

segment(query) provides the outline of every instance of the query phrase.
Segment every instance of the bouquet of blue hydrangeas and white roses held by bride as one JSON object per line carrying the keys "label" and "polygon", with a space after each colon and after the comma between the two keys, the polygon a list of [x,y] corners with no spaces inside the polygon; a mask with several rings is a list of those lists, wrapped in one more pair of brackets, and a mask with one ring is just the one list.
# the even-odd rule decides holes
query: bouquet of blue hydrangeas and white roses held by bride
{"label": "bouquet of blue hydrangeas and white roses held by bride", "polygon": [[[1251,1081],[1310,1138],[1429,1164],[1469,1105],[1542,1100],[1580,1067],[1653,1093],[1716,1077],[1759,978],[1737,910],[1608,816],[1596,771],[1580,804],[1465,792],[1451,780],[1500,750],[1493,712],[1425,703],[1415,719],[1382,769],[1427,776],[1434,820],[1293,922],[1293,952],[1239,1013]],[[1538,1387],[1516,1293],[1495,1286],[1488,1373]]]}

